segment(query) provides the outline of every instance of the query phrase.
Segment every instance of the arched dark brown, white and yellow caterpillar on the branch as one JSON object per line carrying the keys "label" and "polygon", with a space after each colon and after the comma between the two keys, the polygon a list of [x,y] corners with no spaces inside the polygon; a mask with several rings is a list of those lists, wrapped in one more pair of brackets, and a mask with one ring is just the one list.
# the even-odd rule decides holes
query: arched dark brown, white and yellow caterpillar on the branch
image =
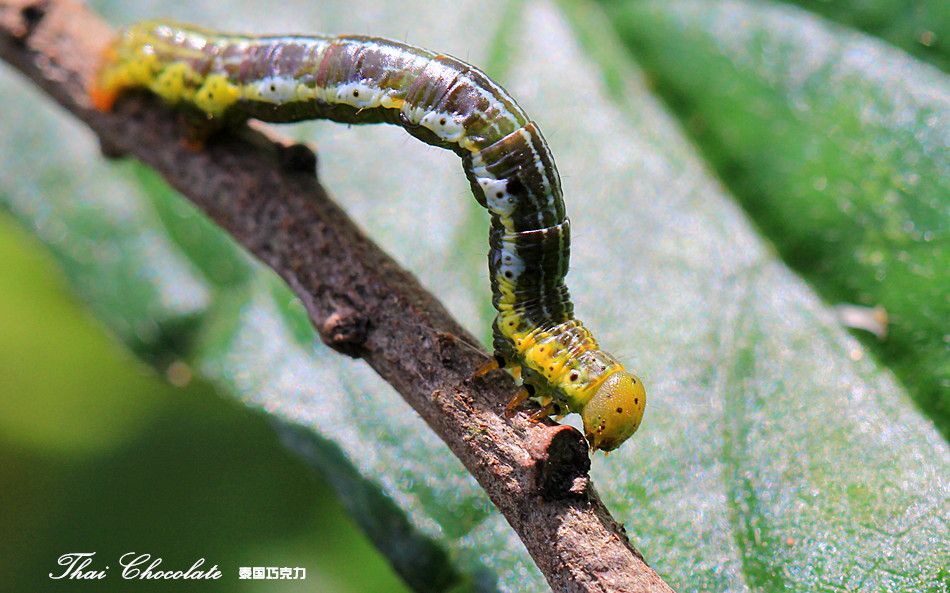
{"label": "arched dark brown, white and yellow caterpillar on the branch", "polygon": [[148,21],[109,46],[90,85],[109,111],[129,89],[178,106],[210,134],[248,118],[390,123],[454,151],[489,211],[494,362],[520,371],[509,412],[581,416],[591,451],[611,451],[643,417],[640,380],[579,320],[564,279],[570,223],[551,152],[537,124],[501,86],[456,58],[368,36],[224,35]]}

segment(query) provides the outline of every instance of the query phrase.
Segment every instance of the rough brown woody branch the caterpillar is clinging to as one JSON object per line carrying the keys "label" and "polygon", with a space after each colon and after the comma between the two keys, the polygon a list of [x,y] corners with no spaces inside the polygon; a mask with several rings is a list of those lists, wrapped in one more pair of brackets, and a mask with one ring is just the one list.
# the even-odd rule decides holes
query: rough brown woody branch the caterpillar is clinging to
{"label": "rough brown woody branch the caterpillar is clinging to", "polygon": [[148,98],[93,110],[85,83],[109,28],[66,0],[0,0],[0,55],[100,138],[130,154],[276,270],[331,347],[364,359],[448,444],[558,592],[671,591],[630,545],[588,477],[576,430],[506,419],[515,385],[472,380],[477,341],[366,238],[317,183],[314,157],[259,133],[185,150],[178,119]]}

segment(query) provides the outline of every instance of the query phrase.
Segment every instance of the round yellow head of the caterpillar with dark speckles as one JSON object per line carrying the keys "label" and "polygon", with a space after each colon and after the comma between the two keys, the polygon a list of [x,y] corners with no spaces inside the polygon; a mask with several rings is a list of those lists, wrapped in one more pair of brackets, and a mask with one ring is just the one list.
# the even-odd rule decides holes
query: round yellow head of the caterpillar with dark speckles
{"label": "round yellow head of the caterpillar with dark speckles", "polygon": [[581,418],[591,451],[613,451],[640,427],[646,392],[640,379],[626,371],[613,373],[590,398]]}

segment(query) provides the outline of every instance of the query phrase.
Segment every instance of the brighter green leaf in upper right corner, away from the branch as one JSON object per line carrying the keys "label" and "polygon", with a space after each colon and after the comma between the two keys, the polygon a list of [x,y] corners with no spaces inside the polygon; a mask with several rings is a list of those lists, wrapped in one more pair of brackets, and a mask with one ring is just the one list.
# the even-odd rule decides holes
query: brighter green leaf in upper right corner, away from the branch
{"label": "brighter green leaf in upper right corner, away from the branch", "polygon": [[785,259],[883,307],[870,347],[950,435],[950,79],[768,4],[630,2],[614,24]]}

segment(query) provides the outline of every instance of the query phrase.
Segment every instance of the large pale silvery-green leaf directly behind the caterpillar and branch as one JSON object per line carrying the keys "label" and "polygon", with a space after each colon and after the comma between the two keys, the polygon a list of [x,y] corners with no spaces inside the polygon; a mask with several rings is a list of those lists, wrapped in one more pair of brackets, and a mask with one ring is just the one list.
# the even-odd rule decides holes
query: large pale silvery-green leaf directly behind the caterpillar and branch
{"label": "large pale silvery-green leaf directly behind the caterpillar and branch", "polygon": [[[128,22],[118,11],[136,5],[106,14]],[[671,31],[690,14],[631,6]],[[176,16],[407,39],[482,66],[540,124],[575,229],[568,282],[578,315],[648,388],[640,433],[597,457],[592,476],[675,589],[946,590],[947,442],[778,259],[596,9],[255,1],[216,19],[216,7],[192,1]],[[135,15],[146,16],[156,15]],[[682,61],[697,75],[708,67]],[[823,95],[829,105],[837,92]],[[266,410],[418,589],[546,590],[474,481],[388,386],[323,348],[287,289],[150,175],[102,162],[88,133],[53,114],[10,115],[46,111],[36,97],[18,90],[0,116],[15,130],[0,141],[0,162],[17,174],[3,176],[2,197],[111,327],[152,360],[184,358],[225,397]],[[768,135],[745,115],[732,134],[761,146]],[[316,145],[328,191],[487,341],[487,215],[457,159],[395,128],[285,130]],[[354,167],[356,157],[373,161]],[[122,257],[95,257],[113,244]],[[138,288],[103,300],[90,289],[99,285]],[[141,325],[158,331],[122,331]]]}

